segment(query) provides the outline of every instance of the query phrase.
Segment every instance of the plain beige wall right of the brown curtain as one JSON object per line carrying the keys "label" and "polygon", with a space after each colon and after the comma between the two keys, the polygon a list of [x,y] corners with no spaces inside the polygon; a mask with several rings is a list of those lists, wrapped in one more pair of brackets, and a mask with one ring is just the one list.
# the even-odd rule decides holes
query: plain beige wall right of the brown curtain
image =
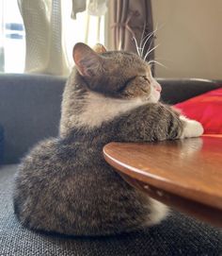
{"label": "plain beige wall right of the brown curtain", "polygon": [[222,79],[222,0],[152,0],[156,77]]}

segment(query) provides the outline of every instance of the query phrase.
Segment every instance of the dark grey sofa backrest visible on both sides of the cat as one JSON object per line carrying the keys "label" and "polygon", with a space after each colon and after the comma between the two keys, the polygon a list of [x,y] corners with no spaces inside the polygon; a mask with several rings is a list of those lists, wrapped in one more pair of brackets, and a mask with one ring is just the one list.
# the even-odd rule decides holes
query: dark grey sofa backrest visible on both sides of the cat
{"label": "dark grey sofa backrest visible on both sides of the cat", "polygon": [[[201,79],[158,79],[169,104],[208,92],[221,83]],[[0,75],[0,125],[5,133],[4,162],[19,162],[44,138],[57,136],[65,77]]]}

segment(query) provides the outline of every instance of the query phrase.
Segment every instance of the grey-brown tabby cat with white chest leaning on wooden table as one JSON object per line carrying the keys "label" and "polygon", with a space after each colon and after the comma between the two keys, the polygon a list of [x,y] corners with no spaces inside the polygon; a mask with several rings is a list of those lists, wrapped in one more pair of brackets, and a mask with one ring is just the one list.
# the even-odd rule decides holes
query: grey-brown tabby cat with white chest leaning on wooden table
{"label": "grey-brown tabby cat with white chest leaning on wooden table", "polygon": [[202,126],[159,102],[160,84],[134,53],[73,47],[59,136],[34,146],[15,177],[14,212],[31,230],[111,235],[144,229],[166,205],[123,180],[103,159],[110,142],[198,137]]}

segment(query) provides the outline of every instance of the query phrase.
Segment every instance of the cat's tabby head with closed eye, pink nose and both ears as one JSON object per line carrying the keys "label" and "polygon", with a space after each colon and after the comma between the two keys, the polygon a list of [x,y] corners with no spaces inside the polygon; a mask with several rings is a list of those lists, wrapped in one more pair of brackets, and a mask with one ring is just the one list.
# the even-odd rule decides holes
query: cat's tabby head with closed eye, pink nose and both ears
{"label": "cat's tabby head with closed eye, pink nose and both ears", "polygon": [[76,43],[72,56],[89,91],[146,102],[157,102],[160,98],[161,86],[151,76],[149,63],[134,53],[106,51],[102,44],[92,50],[85,43]]}

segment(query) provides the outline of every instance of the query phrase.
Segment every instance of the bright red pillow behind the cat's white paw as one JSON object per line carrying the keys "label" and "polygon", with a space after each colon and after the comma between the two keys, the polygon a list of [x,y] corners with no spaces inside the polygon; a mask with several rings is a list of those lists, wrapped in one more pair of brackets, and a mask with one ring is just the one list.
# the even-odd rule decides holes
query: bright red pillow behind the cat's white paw
{"label": "bright red pillow behind the cat's white paw", "polygon": [[190,98],[174,107],[186,117],[200,122],[205,134],[222,134],[222,88]]}

